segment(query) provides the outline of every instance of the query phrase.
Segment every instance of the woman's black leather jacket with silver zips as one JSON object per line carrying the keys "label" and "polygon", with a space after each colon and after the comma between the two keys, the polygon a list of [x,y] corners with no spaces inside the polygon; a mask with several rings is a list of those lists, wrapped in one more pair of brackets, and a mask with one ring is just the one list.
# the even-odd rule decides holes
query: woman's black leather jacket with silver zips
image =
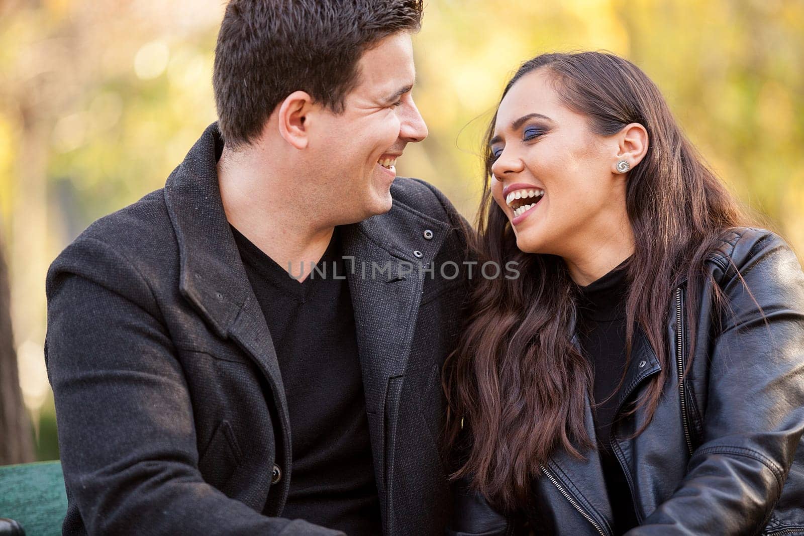
{"label": "woman's black leather jacket with silver zips", "polygon": [[[686,288],[675,289],[667,322],[672,370],[662,400],[635,439],[626,438],[642,411],[613,429],[640,522],[627,534],[804,534],[804,274],[790,248],[761,229],[730,233],[706,269],[732,312],[717,329],[712,288],[704,288],[689,348]],[[661,370],[646,339],[633,351],[621,407]],[[695,356],[679,384],[690,351]],[[593,436],[589,403],[587,429]],[[595,452],[586,460],[556,452],[542,473],[533,507],[523,513],[530,529],[459,483],[450,534],[613,534]]]}

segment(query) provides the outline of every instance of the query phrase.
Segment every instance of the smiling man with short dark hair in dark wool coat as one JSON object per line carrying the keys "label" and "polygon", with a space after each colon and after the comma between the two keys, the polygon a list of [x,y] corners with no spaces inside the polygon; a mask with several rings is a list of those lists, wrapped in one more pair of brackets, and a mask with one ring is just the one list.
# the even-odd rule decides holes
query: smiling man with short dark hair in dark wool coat
{"label": "smiling man with short dark hair in dark wool coat", "polygon": [[219,122],[52,264],[65,534],[441,534],[466,231],[394,180],[421,7],[232,0]]}

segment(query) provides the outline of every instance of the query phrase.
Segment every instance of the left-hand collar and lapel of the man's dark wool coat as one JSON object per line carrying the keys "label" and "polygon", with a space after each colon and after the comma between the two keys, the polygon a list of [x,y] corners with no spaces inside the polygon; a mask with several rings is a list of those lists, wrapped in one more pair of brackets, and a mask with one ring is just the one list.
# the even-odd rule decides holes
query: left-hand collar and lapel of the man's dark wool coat
{"label": "left-hand collar and lapel of the man's dark wool coat", "polygon": [[[167,179],[165,203],[178,239],[179,292],[220,338],[236,342],[265,374],[277,407],[290,472],[290,426],[285,388],[265,317],[256,301],[220,198],[217,158],[223,149],[217,124],[204,131]],[[289,485],[289,478],[283,485]]]}

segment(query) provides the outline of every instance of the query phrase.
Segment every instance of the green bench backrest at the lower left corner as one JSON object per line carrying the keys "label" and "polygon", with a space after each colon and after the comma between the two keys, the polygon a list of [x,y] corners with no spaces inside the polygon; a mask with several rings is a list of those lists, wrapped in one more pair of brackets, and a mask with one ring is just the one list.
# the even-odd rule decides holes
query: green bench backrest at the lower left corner
{"label": "green bench backrest at the lower left corner", "polygon": [[[61,534],[67,493],[61,463],[0,465],[0,518],[13,520],[25,536]],[[14,523],[0,521],[0,536],[23,534]]]}

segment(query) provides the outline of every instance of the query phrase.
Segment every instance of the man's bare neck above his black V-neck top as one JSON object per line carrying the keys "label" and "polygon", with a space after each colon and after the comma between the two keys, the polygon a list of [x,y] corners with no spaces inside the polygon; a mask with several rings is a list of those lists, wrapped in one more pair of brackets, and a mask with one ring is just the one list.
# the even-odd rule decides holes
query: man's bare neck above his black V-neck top
{"label": "man's bare neck above his black V-neck top", "polygon": [[254,153],[224,148],[218,184],[226,218],[293,278],[303,281],[321,259],[334,225],[310,219],[297,207],[297,189]]}

